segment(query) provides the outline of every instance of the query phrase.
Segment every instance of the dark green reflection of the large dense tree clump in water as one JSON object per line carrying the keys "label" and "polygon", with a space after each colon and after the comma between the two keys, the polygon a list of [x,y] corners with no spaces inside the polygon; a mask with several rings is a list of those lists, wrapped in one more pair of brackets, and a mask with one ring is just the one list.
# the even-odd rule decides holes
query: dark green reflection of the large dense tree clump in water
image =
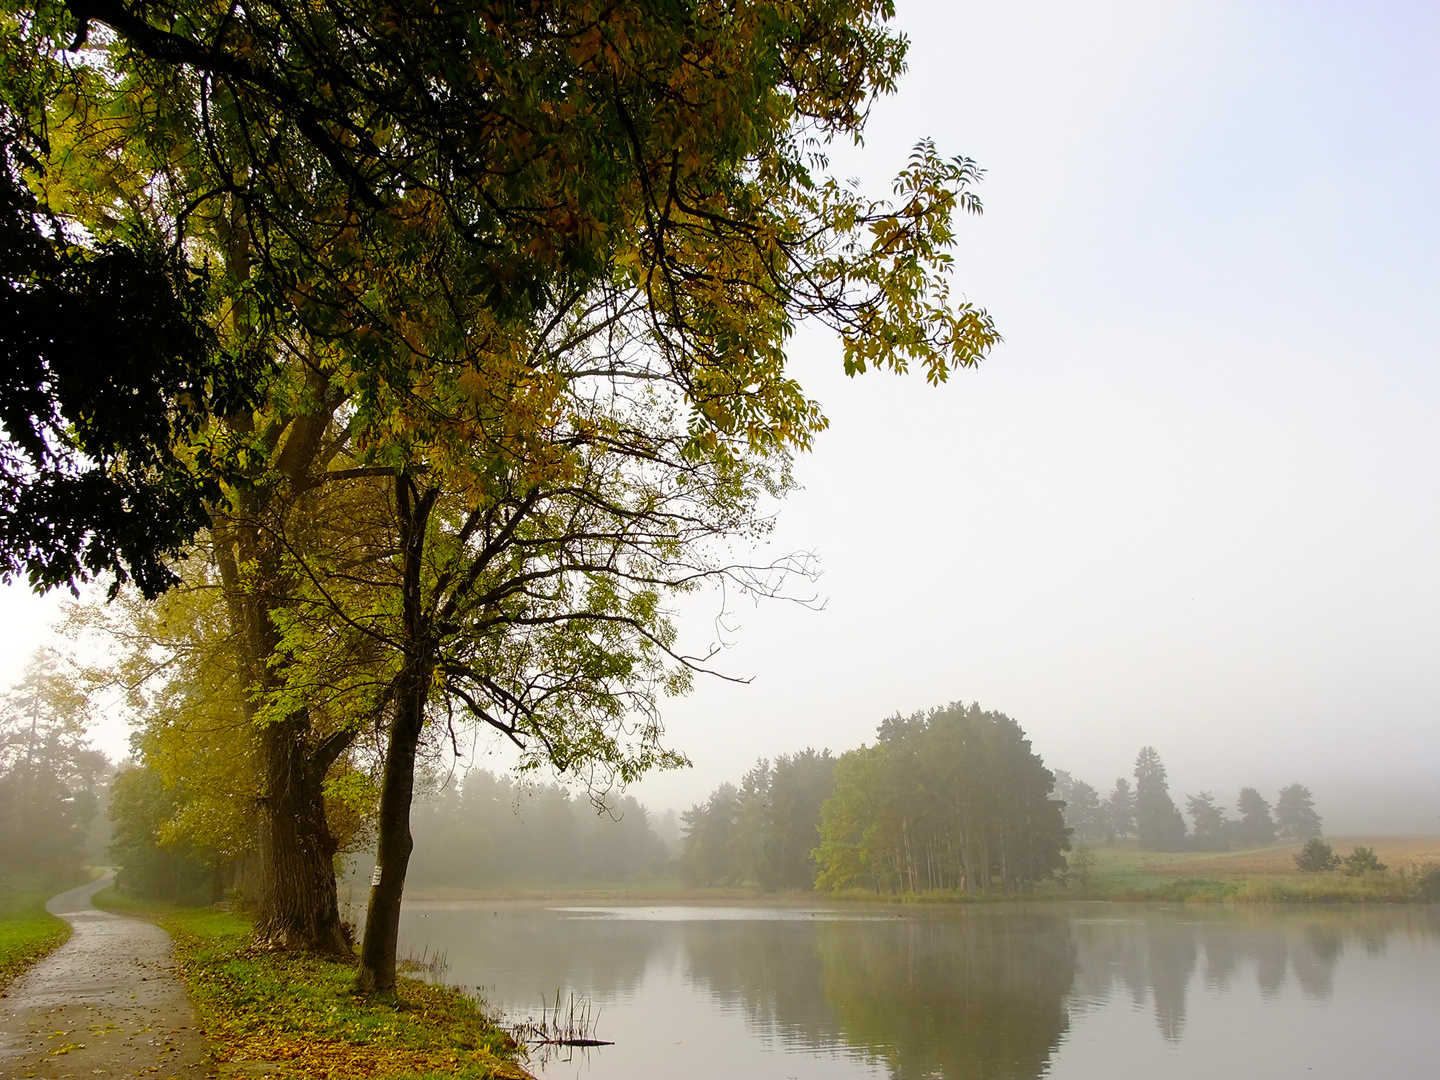
{"label": "dark green reflection of the large dense tree clump in water", "polygon": [[687,927],[694,978],[765,1031],[910,1077],[1040,1076],[1066,1031],[1058,913]]}

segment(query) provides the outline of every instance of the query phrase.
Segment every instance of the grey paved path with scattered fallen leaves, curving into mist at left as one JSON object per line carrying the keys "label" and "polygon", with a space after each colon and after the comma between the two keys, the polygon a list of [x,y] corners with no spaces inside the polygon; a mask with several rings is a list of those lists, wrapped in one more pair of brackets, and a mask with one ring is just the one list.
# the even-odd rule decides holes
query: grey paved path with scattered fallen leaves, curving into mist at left
{"label": "grey paved path with scattered fallen leaves, curving into mist at left", "polygon": [[0,998],[4,1080],[209,1074],[170,936],[92,907],[109,883],[107,874],[46,904],[75,933]]}

